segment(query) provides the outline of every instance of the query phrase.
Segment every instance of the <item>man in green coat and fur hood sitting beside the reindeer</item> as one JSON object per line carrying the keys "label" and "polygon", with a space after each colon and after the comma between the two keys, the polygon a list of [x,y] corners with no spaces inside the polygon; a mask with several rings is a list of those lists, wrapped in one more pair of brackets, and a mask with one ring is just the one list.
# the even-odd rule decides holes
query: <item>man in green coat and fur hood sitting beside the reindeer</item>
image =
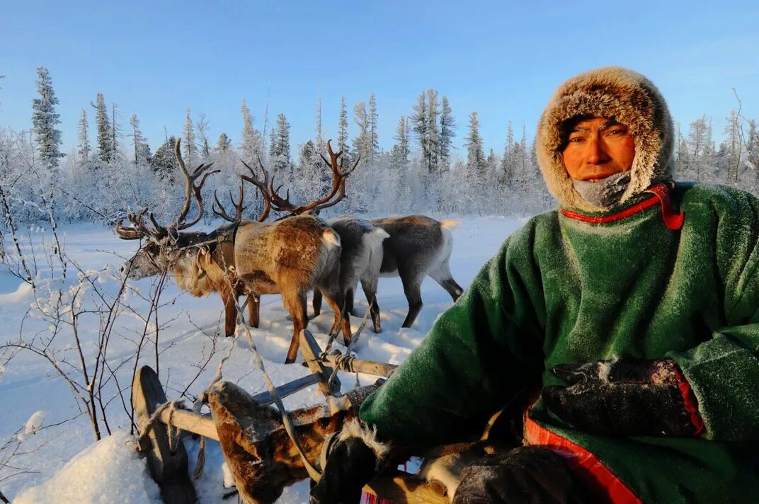
{"label": "man in green coat and fur hood sitting beside the reindeer", "polygon": [[[524,446],[458,474],[457,504],[759,496],[759,200],[673,183],[672,145],[640,74],[563,83],[536,137],[559,209],[510,236],[367,398],[364,433],[416,452],[530,405]],[[312,502],[357,498],[387,459],[364,439],[335,443]]]}

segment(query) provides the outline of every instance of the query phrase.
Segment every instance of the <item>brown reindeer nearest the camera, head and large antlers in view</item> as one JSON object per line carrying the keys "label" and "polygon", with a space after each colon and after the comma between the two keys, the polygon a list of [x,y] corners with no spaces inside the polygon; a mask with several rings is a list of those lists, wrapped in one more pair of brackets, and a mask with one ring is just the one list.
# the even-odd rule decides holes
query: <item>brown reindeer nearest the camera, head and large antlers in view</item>
{"label": "brown reindeer nearest the camera, head and large antlers in view", "polygon": [[[358,161],[352,169],[343,172],[342,163],[338,162],[342,152],[333,154],[329,148],[332,156],[330,165],[333,175],[332,190],[320,200],[295,208],[293,212],[295,215],[287,219],[263,222],[269,214],[272,202],[289,203],[287,198],[282,200],[273,190],[272,178],[269,191],[262,191],[264,210],[258,221],[241,218],[243,209],[241,193],[236,219],[231,218],[235,222],[222,225],[210,233],[182,233],[181,230],[199,222],[203,215],[200,188],[210,174],[206,174],[206,177],[196,186],[195,179],[208,166],[200,165],[190,175],[181,159],[179,144],[178,141],[175,145],[175,156],[187,180],[182,212],[178,219],[167,227],[160,226],[152,215],[150,215],[150,220],[153,226],[146,225],[143,222],[146,210],[137,216],[128,214],[131,226],[125,227],[119,222],[116,232],[121,238],[147,238],[149,241],[146,247],[140,249],[131,260],[124,263],[122,270],[128,271],[131,279],[156,275],[169,270],[175,276],[178,285],[190,291],[192,295],[208,295],[212,291],[221,292],[222,298],[225,298],[227,335],[231,335],[235,327],[237,309],[234,299],[236,296],[243,294],[249,296],[249,304],[252,302],[250,319],[255,321],[257,317],[254,319],[253,315],[257,316],[258,311],[256,296],[282,294],[282,302],[290,313],[294,329],[285,364],[294,362],[298,354],[298,335],[308,323],[307,292],[315,287],[320,288],[335,313],[340,313],[343,305],[343,296],[339,288],[341,250],[339,235],[322,219],[298,214],[310,209],[326,208],[341,200],[345,196],[345,178],[353,172]],[[250,172],[251,176],[243,175],[241,178],[253,182],[259,188],[266,187],[266,184],[255,177],[252,169]],[[338,192],[339,197],[332,200]],[[190,208],[192,194],[197,201],[198,214],[192,222],[185,223],[184,219]],[[216,201],[218,203],[218,198]],[[223,212],[223,209],[221,211]],[[351,339],[350,321],[343,320],[341,328],[347,345]],[[332,330],[337,329],[332,328]]]}

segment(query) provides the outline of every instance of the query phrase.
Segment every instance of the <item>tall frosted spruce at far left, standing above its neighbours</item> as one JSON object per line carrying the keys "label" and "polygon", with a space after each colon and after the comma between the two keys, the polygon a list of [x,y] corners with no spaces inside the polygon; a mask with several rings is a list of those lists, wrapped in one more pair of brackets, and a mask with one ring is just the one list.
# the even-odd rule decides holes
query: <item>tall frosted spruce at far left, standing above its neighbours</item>
{"label": "tall frosted spruce at far left, standing above its neighbours", "polygon": [[61,153],[61,131],[55,128],[56,124],[61,124],[58,113],[55,112],[58,98],[52,89],[52,80],[47,68],[37,67],[36,84],[39,98],[32,101],[32,131],[39,161],[46,169],[54,169],[58,166],[58,159],[64,154]]}

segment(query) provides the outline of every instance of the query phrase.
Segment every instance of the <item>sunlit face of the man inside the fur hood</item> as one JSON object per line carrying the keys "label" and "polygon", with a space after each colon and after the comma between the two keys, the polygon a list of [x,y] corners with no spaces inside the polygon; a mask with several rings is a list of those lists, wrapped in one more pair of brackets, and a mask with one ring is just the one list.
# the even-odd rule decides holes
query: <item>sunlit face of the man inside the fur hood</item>
{"label": "sunlit face of the man inside the fur hood", "polygon": [[613,119],[584,119],[569,133],[562,159],[570,177],[597,182],[631,169],[635,142],[627,126]]}

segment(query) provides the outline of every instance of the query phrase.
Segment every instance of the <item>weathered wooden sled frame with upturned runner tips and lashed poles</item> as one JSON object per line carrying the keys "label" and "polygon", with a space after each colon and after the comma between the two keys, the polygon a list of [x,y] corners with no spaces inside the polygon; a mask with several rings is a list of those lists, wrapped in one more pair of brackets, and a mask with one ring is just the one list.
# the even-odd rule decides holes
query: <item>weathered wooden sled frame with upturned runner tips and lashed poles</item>
{"label": "weathered wooden sled frame with upturned runner tips and lashed poles", "polygon": [[[291,395],[313,384],[318,384],[325,396],[339,396],[340,383],[337,376],[331,382],[329,380],[332,373],[335,373],[335,368],[349,373],[368,373],[387,377],[397,367],[393,364],[345,358],[339,352],[323,355],[318,342],[308,330],[301,332],[300,348],[305,364],[311,373],[278,386],[276,392],[279,397]],[[269,392],[262,392],[251,398],[261,405],[269,405],[273,402]],[[158,376],[148,366],[140,368],[134,377],[132,401],[140,433],[143,433],[146,428],[150,430],[147,436],[143,436],[143,443],[140,443],[138,448],[140,452],[146,453],[150,474],[161,487],[163,501],[167,504],[195,502],[195,490],[187,475],[187,452],[181,443],[169,446],[166,425],[170,425],[181,433],[194,433],[220,441],[212,415],[166,408],[156,416],[153,428],[150,428],[150,418],[159,405],[167,402],[167,399]],[[225,458],[227,456],[225,453]],[[392,471],[377,477],[364,487],[364,491],[395,504],[446,504],[449,502],[442,490],[433,488],[414,474],[403,471]]]}

